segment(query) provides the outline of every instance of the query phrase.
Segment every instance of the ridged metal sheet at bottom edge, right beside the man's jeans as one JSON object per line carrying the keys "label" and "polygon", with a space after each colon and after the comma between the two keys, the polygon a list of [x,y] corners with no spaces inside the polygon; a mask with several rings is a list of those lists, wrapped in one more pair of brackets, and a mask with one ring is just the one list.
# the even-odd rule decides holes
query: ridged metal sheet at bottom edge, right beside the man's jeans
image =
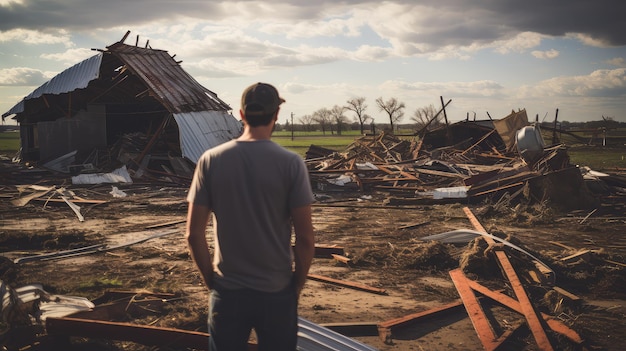
{"label": "ridged metal sheet at bottom edge, right beside the man's jeans", "polygon": [[328,328],[298,319],[298,351],[377,351],[357,340]]}

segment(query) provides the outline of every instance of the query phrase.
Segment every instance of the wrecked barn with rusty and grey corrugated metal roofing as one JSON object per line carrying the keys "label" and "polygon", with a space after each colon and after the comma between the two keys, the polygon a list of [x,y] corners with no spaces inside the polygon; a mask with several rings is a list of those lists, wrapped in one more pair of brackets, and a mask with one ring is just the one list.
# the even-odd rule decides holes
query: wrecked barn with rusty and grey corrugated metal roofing
{"label": "wrecked barn with rusty and grey corrugated metal roofing", "polygon": [[[21,159],[40,164],[66,156],[107,169],[125,154],[195,162],[239,135],[232,108],[185,72],[167,51],[121,41],[59,73],[2,115],[20,124]],[[162,161],[162,160],[161,160]],[[81,167],[78,171],[81,170]],[[160,167],[153,167],[160,168]]]}

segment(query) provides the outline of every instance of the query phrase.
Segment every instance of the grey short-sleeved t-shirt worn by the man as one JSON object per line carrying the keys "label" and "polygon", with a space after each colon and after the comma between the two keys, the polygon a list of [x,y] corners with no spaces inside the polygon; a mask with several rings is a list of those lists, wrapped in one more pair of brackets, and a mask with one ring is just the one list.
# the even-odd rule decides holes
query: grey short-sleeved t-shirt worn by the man
{"label": "grey short-sleeved t-shirt worn by the man", "polygon": [[293,208],[313,202],[302,158],[271,140],[231,140],[198,160],[187,200],[213,211],[214,282],[275,292],[292,277]]}

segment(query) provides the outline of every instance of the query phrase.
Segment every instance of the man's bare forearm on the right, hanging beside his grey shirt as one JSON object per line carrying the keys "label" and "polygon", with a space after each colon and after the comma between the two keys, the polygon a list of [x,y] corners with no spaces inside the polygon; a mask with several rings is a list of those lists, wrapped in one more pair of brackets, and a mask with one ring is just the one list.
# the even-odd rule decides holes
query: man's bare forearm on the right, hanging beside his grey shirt
{"label": "man's bare forearm on the right, hanging beside his grey shirt", "polygon": [[315,255],[315,234],[313,233],[311,220],[311,205],[292,209],[291,219],[296,232],[294,279],[296,291],[298,296],[300,296],[309,274],[309,268],[311,268],[313,256]]}

